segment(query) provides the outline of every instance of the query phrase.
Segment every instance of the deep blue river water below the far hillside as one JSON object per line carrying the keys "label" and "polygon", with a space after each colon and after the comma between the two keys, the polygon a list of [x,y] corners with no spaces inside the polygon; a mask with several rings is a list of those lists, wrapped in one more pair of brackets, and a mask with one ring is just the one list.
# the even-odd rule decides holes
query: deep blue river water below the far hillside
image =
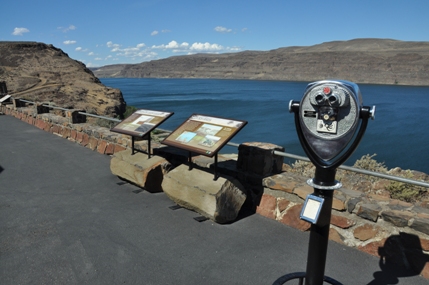
{"label": "deep blue river water below the far hillside", "polygon": [[[259,141],[305,155],[296,135],[290,100],[301,100],[308,82],[101,78],[119,88],[128,105],[169,111],[174,115],[160,128],[174,130],[194,113],[245,120],[248,124],[231,141]],[[429,173],[429,87],[359,85],[365,106],[376,105],[361,144],[345,163],[353,165],[365,154],[388,168]],[[221,153],[237,149],[225,146]]]}

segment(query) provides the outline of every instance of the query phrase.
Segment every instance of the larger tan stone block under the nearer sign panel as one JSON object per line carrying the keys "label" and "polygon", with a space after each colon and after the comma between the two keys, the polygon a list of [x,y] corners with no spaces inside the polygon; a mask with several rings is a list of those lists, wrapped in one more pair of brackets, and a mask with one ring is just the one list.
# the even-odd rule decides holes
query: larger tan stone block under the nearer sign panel
{"label": "larger tan stone block under the nearer sign panel", "polygon": [[176,204],[217,223],[234,221],[246,200],[244,187],[231,177],[218,177],[180,165],[164,176],[162,189]]}

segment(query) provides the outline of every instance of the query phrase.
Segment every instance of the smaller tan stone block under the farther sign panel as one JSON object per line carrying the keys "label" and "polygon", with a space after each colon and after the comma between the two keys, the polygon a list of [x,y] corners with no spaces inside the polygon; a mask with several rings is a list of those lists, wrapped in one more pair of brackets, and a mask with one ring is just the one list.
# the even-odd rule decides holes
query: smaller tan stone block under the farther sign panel
{"label": "smaller tan stone block under the farther sign panel", "polygon": [[114,175],[130,181],[151,192],[162,192],[164,173],[170,168],[170,163],[163,157],[134,153],[124,150],[113,155],[110,170]]}

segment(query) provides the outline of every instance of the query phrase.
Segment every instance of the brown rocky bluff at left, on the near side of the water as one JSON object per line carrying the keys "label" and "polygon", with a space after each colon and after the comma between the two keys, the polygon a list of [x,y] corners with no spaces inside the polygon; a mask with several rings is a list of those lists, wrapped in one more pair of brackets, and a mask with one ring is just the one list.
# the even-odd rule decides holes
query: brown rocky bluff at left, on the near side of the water
{"label": "brown rocky bluff at left, on the near side of the water", "polygon": [[44,43],[0,42],[0,81],[17,98],[100,115],[125,111],[119,89],[104,86],[83,63]]}

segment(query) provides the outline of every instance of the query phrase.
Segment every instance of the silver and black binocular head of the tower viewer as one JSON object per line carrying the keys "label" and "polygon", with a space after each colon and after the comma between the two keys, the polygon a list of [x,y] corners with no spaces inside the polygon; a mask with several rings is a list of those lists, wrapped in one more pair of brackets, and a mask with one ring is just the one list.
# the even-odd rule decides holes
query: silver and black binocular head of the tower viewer
{"label": "silver and black binocular head of the tower viewer", "polygon": [[[362,104],[358,85],[343,80],[310,83],[300,102],[289,103],[301,145],[316,166],[329,166],[339,155],[342,163],[352,141],[357,141],[353,146],[357,147],[367,119],[374,118],[375,113],[375,108],[369,110]],[[365,126],[358,132],[361,119]]]}

